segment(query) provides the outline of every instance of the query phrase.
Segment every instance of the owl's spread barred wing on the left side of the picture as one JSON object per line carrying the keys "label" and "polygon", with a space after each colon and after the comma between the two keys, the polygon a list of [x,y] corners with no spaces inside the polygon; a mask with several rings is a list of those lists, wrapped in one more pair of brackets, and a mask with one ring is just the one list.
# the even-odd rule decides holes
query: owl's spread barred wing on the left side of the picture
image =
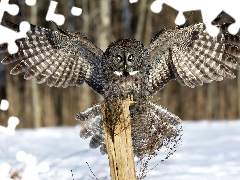
{"label": "owl's spread barred wing on the left side of the picture", "polygon": [[[3,25],[19,31],[11,22]],[[103,51],[78,32],[71,33],[57,27],[58,31],[31,25],[27,37],[16,41],[19,51],[9,54],[3,64],[21,60],[12,70],[16,75],[25,72],[24,78],[35,78],[37,83],[49,86],[80,86],[86,82],[95,92],[102,94],[100,58]],[[6,52],[7,45],[0,46]]]}

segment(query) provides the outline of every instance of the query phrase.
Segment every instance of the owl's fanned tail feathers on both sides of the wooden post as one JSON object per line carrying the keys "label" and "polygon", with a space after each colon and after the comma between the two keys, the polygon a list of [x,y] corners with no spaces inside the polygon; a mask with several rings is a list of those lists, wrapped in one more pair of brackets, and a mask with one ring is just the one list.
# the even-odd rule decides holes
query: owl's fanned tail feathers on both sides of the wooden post
{"label": "owl's fanned tail feathers on both sides of the wooden post", "polygon": [[[104,143],[102,114],[99,109],[101,105],[89,108],[80,112],[77,120],[87,121],[80,131],[80,137],[90,138],[91,148],[100,147],[100,152],[106,154]],[[163,146],[168,147],[169,143],[180,142],[181,129],[179,124],[181,119],[170,113],[166,108],[150,101],[139,102],[130,108],[131,114],[131,135],[133,141],[134,154],[137,157],[154,155]]]}

